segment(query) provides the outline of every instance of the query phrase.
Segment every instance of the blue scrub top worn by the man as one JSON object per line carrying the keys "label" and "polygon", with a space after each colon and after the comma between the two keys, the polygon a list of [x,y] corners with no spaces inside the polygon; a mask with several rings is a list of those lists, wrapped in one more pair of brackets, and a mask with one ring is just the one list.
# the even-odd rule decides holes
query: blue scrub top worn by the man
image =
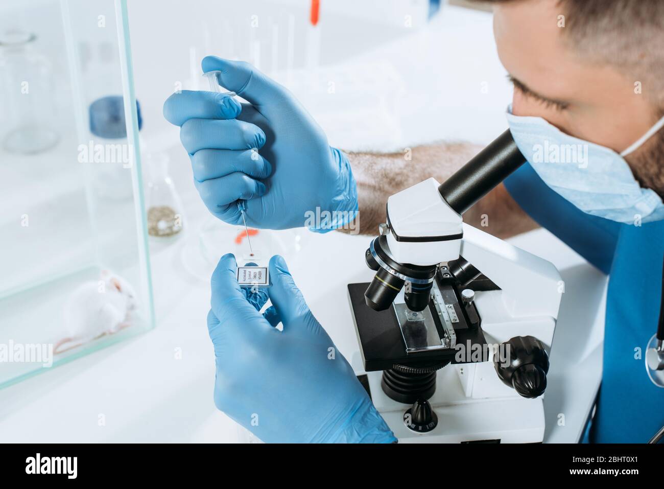
{"label": "blue scrub top worn by the man", "polygon": [[528,163],[505,186],[537,223],[609,275],[604,369],[590,441],[647,442],[664,425],[664,389],[645,370],[659,320],[664,221],[637,227],[586,214]]}

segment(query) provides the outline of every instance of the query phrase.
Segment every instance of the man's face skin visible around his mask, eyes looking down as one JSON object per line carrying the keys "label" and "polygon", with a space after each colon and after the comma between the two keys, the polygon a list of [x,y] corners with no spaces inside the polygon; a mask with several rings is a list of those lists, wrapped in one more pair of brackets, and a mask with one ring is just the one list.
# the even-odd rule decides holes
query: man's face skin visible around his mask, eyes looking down
{"label": "man's face skin visible around his mask, eyes looking down", "polygon": [[[584,59],[558,27],[558,2],[511,1],[494,7],[493,28],[503,66],[515,82],[513,113],[539,116],[582,140],[623,151],[659,115],[628,74]],[[664,181],[652,159],[657,136],[628,158],[635,177],[660,194]],[[659,154],[661,158],[661,154]],[[653,174],[657,173],[657,175]]]}

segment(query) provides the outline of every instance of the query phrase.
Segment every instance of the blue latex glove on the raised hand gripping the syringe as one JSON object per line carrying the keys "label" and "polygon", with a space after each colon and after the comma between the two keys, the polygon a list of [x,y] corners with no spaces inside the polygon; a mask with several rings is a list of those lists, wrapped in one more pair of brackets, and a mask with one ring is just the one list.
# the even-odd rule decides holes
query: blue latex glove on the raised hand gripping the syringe
{"label": "blue latex glove on the raised hand gripping the syringe", "polygon": [[210,212],[240,225],[235,201],[246,199],[252,227],[329,231],[354,219],[351,165],[293,95],[246,62],[207,56],[202,65],[220,70],[219,83],[250,102],[240,108],[220,94],[183,90],[164,104],[165,118],[181,126]]}

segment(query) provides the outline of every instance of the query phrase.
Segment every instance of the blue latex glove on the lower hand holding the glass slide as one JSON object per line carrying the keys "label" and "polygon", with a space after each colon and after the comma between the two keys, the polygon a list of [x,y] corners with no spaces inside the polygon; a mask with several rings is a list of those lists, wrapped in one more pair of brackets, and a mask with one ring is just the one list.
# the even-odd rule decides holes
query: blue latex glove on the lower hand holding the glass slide
{"label": "blue latex glove on the lower hand holding the glass slide", "polygon": [[[250,304],[232,254],[212,274],[208,330],[214,403],[264,442],[394,442],[351,365],[313,317],[284,258],[270,260],[266,298]],[[255,302],[256,297],[254,297]],[[283,331],[274,328],[282,322]]]}

